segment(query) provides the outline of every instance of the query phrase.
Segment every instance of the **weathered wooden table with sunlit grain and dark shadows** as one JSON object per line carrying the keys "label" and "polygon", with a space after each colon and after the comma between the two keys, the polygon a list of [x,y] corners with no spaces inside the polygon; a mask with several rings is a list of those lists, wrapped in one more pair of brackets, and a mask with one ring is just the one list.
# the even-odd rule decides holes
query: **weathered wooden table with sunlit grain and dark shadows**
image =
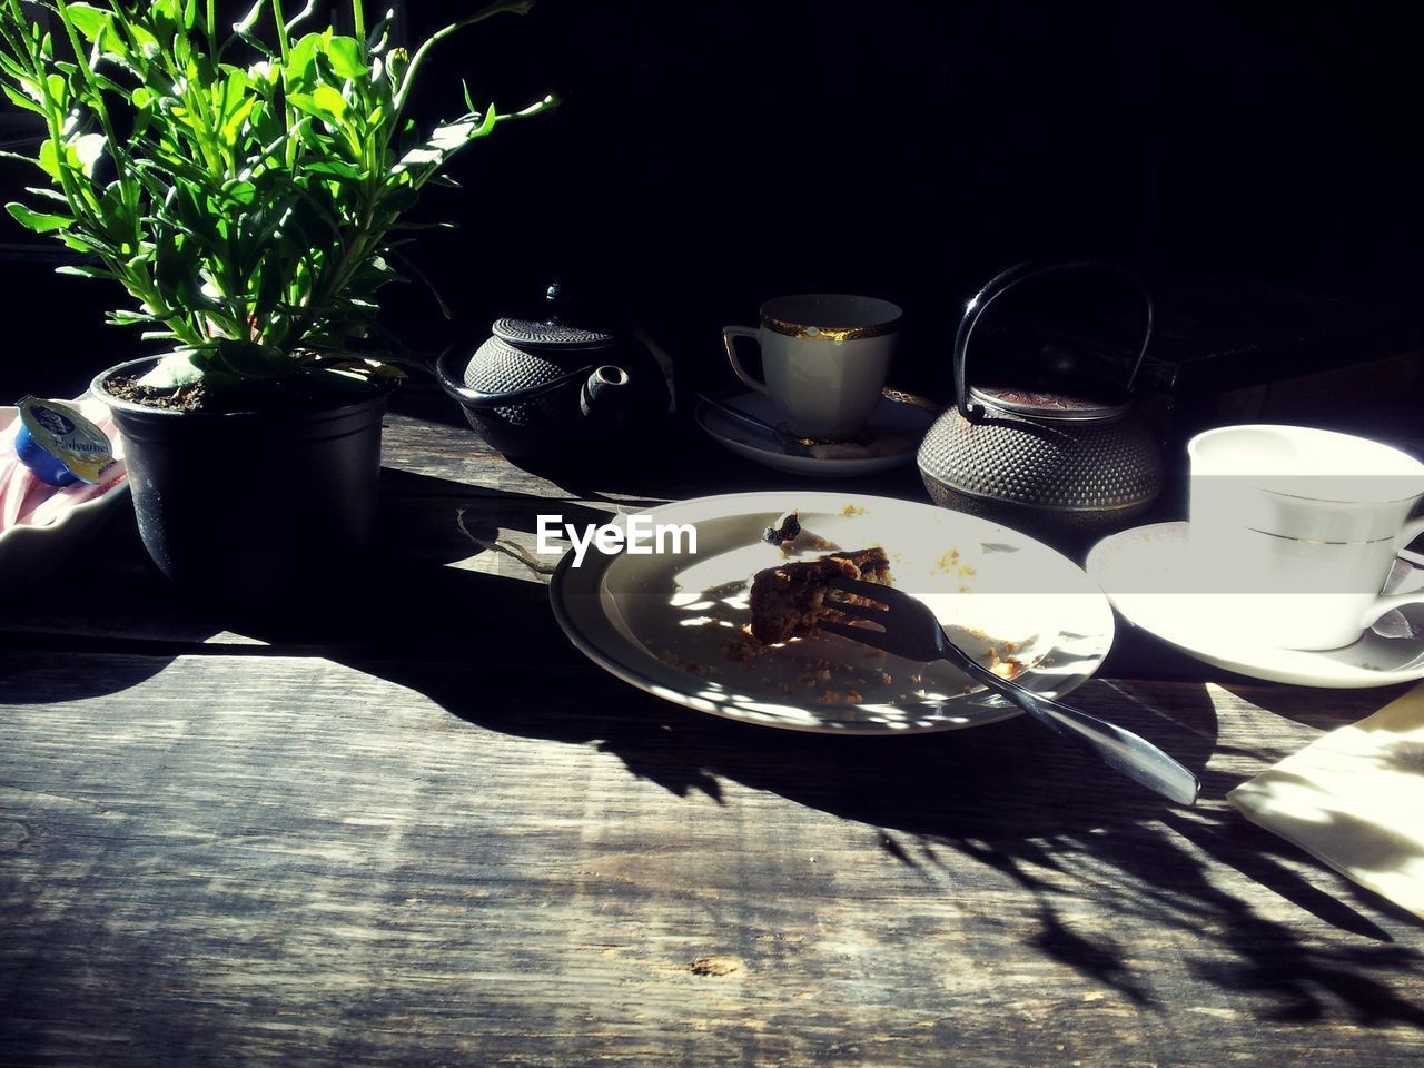
{"label": "weathered wooden table with sunlit grain and dark shadows", "polygon": [[[369,601],[205,619],[127,514],[6,600],[0,1062],[1424,1057],[1424,928],[1223,802],[1400,689],[1121,635],[1075,701],[1196,769],[1193,809],[1022,718],[847,739],[699,715],[588,662],[456,513],[533,547],[541,513],[787,476],[679,426],[646,468],[544,477],[439,397],[399,403]],[[889,488],[923,498],[913,471]]]}

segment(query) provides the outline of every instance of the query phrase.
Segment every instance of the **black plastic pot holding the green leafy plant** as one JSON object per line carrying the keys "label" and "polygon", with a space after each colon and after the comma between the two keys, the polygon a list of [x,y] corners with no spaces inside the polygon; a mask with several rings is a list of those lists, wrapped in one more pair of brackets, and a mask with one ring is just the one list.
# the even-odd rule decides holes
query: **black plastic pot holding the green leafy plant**
{"label": "black plastic pot holding the green leafy plant", "polygon": [[98,375],[128,461],[138,531],[154,564],[214,608],[282,607],[349,582],[376,525],[389,389],[299,410],[174,412],[115,397]]}

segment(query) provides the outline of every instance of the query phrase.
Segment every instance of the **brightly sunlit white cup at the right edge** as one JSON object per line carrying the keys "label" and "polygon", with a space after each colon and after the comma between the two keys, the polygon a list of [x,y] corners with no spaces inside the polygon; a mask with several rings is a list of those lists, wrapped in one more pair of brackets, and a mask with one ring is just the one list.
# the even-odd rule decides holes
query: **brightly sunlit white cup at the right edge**
{"label": "brightly sunlit white cup at the right edge", "polygon": [[1390,446],[1299,426],[1229,426],[1188,443],[1190,553],[1223,631],[1287,649],[1337,649],[1424,591],[1383,594],[1424,464]]}

